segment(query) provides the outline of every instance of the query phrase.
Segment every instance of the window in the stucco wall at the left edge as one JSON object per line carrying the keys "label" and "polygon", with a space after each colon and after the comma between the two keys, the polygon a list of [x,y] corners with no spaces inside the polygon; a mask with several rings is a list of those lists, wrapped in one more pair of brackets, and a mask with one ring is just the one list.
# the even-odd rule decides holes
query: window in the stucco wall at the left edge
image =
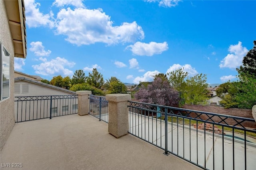
{"label": "window in the stucco wall at the left edge", "polygon": [[10,97],[10,53],[0,43],[0,100]]}

